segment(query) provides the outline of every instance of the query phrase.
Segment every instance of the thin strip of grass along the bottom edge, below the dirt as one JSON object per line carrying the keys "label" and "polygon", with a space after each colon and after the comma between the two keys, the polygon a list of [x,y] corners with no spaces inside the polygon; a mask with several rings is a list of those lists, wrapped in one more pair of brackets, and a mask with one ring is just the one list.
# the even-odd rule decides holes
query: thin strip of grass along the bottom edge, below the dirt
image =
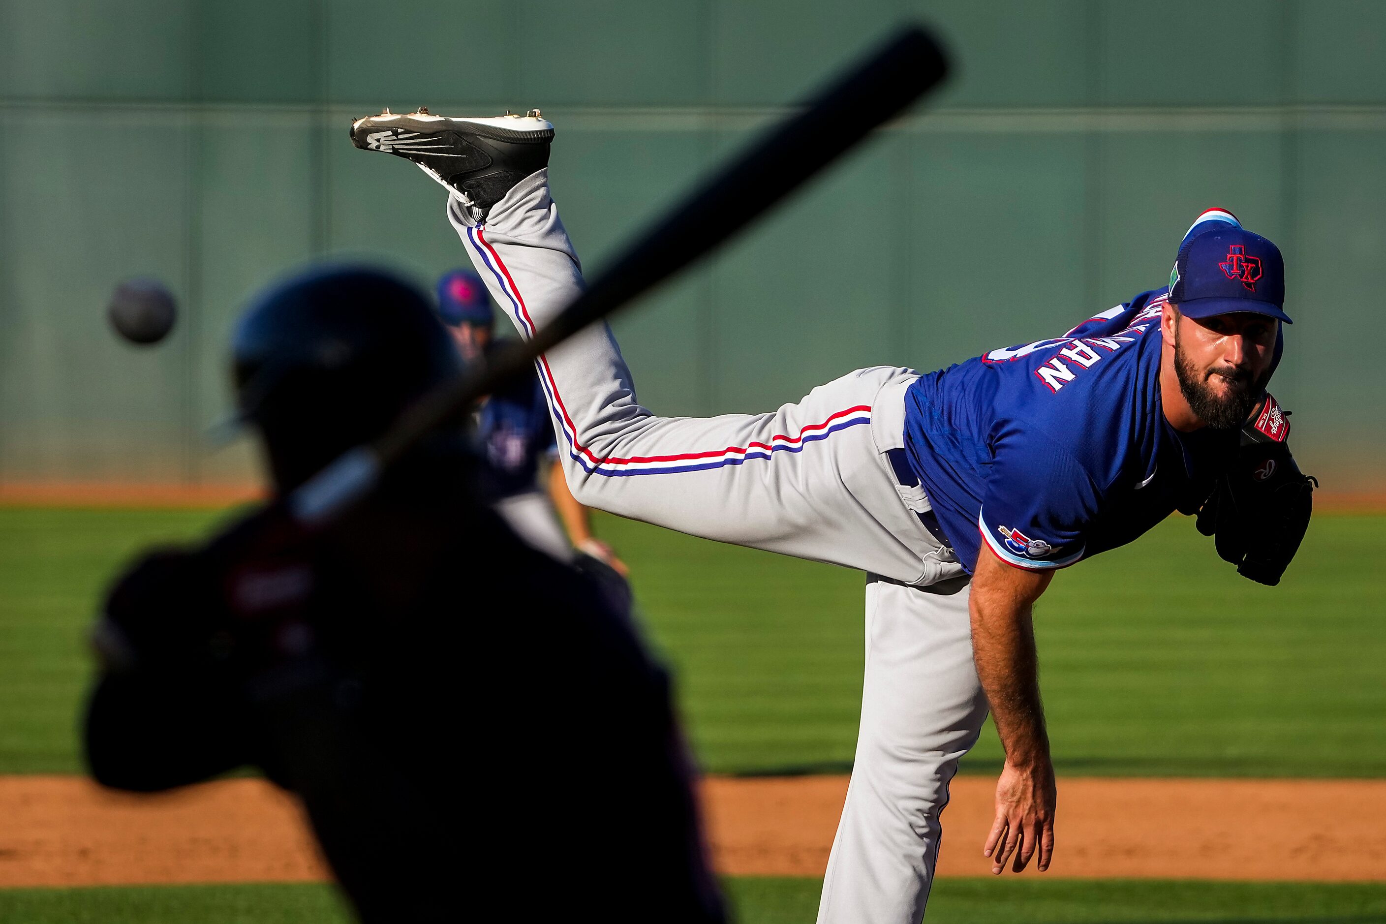
{"label": "thin strip of grass along the bottom edge, below the dirt", "polygon": [[[740,924],[801,924],[818,909],[818,880],[723,882]],[[459,889],[466,917],[470,892]],[[505,902],[505,896],[489,896]],[[554,920],[586,917],[579,906]],[[1386,917],[1386,885],[1300,882],[1100,882],[1042,878],[940,880],[929,924],[1367,924]],[[7,924],[348,924],[328,885],[173,885],[0,891]],[[656,918],[651,918],[656,920]]]}

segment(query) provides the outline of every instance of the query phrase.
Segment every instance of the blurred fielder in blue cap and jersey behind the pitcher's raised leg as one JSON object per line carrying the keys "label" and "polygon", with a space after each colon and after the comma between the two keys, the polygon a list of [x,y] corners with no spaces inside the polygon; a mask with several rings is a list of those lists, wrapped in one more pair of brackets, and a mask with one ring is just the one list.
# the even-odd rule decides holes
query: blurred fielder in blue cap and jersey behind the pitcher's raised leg
{"label": "blurred fielder in blue cap and jersey behind the pitcher's raised leg", "polygon": [[[466,363],[500,344],[493,337],[495,314],[486,285],[468,269],[439,277],[438,317]],[[568,490],[538,377],[491,395],[477,410],[475,435],[486,463],[484,492],[511,529],[560,561],[577,550],[626,576],[625,562],[592,533],[592,511]],[[554,513],[563,521],[561,528]]]}

